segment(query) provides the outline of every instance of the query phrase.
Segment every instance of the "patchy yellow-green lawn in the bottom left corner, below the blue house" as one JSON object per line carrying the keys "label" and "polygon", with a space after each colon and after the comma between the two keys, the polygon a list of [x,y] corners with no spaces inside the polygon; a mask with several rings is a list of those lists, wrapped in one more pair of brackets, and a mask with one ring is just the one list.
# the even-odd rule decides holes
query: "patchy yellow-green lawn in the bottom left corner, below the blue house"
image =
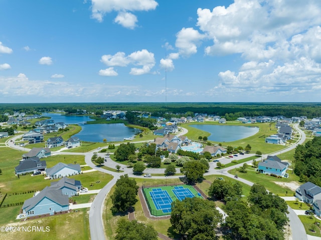
{"label": "patchy yellow-green lawn in the bottom left corner, below the blue house", "polygon": [[[11,209],[13,210],[13,209]],[[18,210],[19,211],[19,210]],[[2,215],[2,211],[0,211]],[[9,212],[8,212],[9,213]],[[71,239],[85,240],[90,239],[88,210],[86,208],[73,210],[66,214],[57,214],[49,217],[35,218],[27,221],[17,221],[14,224],[20,226],[20,231],[3,232],[0,231],[0,239]],[[16,216],[18,213],[16,214]],[[6,217],[7,218],[7,217]],[[3,218],[2,218],[3,219]],[[8,222],[8,221],[7,221]],[[5,223],[3,223],[5,224]],[[6,225],[4,225],[6,226]],[[37,226],[43,227],[45,231],[26,232],[22,227]],[[49,227],[49,231],[46,231]]]}

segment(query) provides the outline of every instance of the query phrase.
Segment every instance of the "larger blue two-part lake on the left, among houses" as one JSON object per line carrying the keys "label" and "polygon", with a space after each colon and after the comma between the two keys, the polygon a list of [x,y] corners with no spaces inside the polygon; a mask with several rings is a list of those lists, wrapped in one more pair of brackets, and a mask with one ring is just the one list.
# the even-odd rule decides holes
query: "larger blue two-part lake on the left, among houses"
{"label": "larger blue two-part lake on the left, among houses", "polygon": [[55,122],[78,124],[82,129],[74,136],[81,141],[102,142],[104,138],[107,142],[123,141],[124,138],[134,137],[141,132],[137,128],[126,127],[123,123],[85,124],[94,121],[89,116],[65,116],[57,113],[43,113],[42,116],[51,117]]}

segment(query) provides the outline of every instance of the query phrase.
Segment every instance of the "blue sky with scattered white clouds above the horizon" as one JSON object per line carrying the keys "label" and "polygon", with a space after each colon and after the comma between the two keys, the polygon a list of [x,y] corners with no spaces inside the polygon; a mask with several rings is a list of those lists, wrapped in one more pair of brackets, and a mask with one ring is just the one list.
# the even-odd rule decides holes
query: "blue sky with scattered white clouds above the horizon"
{"label": "blue sky with scattered white clouds above the horizon", "polygon": [[320,25],[319,0],[1,0],[0,102],[320,102]]}

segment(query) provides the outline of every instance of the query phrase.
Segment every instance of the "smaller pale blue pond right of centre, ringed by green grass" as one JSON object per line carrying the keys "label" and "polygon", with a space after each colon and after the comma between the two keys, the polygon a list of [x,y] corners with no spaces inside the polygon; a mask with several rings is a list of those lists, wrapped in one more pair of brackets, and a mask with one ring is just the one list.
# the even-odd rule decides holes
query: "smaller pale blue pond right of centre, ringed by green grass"
{"label": "smaller pale blue pond right of centre, ringed by green grass", "polygon": [[215,142],[232,142],[258,133],[258,127],[231,125],[190,125],[191,127],[211,133],[208,140]]}

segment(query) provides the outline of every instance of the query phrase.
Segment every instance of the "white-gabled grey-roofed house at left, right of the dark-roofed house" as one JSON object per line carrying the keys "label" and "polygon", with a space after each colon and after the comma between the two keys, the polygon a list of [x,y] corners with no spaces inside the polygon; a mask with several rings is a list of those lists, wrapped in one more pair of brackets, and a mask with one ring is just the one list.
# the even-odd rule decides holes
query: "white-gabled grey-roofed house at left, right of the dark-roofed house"
{"label": "white-gabled grey-roofed house at left, right of the dark-roofed house", "polygon": [[72,176],[80,174],[81,168],[79,164],[57,163],[54,167],[47,169],[47,176],[51,179],[59,177]]}

